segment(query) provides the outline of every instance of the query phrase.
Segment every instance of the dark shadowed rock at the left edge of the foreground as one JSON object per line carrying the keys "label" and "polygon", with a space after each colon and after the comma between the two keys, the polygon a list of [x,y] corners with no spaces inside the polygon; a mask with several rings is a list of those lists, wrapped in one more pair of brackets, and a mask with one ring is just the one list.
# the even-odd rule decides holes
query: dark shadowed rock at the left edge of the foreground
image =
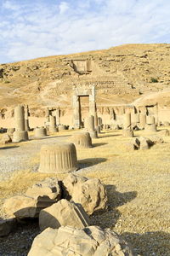
{"label": "dark shadowed rock at the left edge of the foreground", "polygon": [[0,219],[0,236],[8,236],[16,225],[15,218]]}

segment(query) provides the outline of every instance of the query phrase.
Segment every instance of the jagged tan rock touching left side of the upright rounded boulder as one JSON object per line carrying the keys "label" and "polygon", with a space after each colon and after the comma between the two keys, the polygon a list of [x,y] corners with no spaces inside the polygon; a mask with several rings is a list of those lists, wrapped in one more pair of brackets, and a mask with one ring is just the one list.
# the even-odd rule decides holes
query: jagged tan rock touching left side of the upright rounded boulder
{"label": "jagged tan rock touching left side of the upright rounded boulder", "polygon": [[[61,199],[61,188],[56,177],[47,177],[44,181],[34,184],[26,190],[26,195],[44,203],[56,202]],[[47,207],[49,204],[47,205]]]}

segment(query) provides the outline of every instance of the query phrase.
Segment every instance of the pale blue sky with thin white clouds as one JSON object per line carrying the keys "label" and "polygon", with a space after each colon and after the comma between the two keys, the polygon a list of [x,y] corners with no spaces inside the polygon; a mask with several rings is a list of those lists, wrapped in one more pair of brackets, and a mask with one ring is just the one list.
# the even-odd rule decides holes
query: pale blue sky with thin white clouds
{"label": "pale blue sky with thin white clouds", "polygon": [[0,63],[170,42],[170,0],[0,0]]}

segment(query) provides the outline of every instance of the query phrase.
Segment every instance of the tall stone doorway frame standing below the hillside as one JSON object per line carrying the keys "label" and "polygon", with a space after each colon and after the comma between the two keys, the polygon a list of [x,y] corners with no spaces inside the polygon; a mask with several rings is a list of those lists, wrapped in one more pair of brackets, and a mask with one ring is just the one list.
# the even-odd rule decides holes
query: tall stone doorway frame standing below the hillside
{"label": "tall stone doorway frame standing below the hillside", "polygon": [[81,114],[81,96],[89,96],[89,115],[95,114],[96,104],[95,104],[95,87],[94,85],[88,87],[76,87],[73,86],[73,96],[72,96],[72,108],[73,108],[73,126],[74,128],[80,128],[82,126],[82,114]]}

